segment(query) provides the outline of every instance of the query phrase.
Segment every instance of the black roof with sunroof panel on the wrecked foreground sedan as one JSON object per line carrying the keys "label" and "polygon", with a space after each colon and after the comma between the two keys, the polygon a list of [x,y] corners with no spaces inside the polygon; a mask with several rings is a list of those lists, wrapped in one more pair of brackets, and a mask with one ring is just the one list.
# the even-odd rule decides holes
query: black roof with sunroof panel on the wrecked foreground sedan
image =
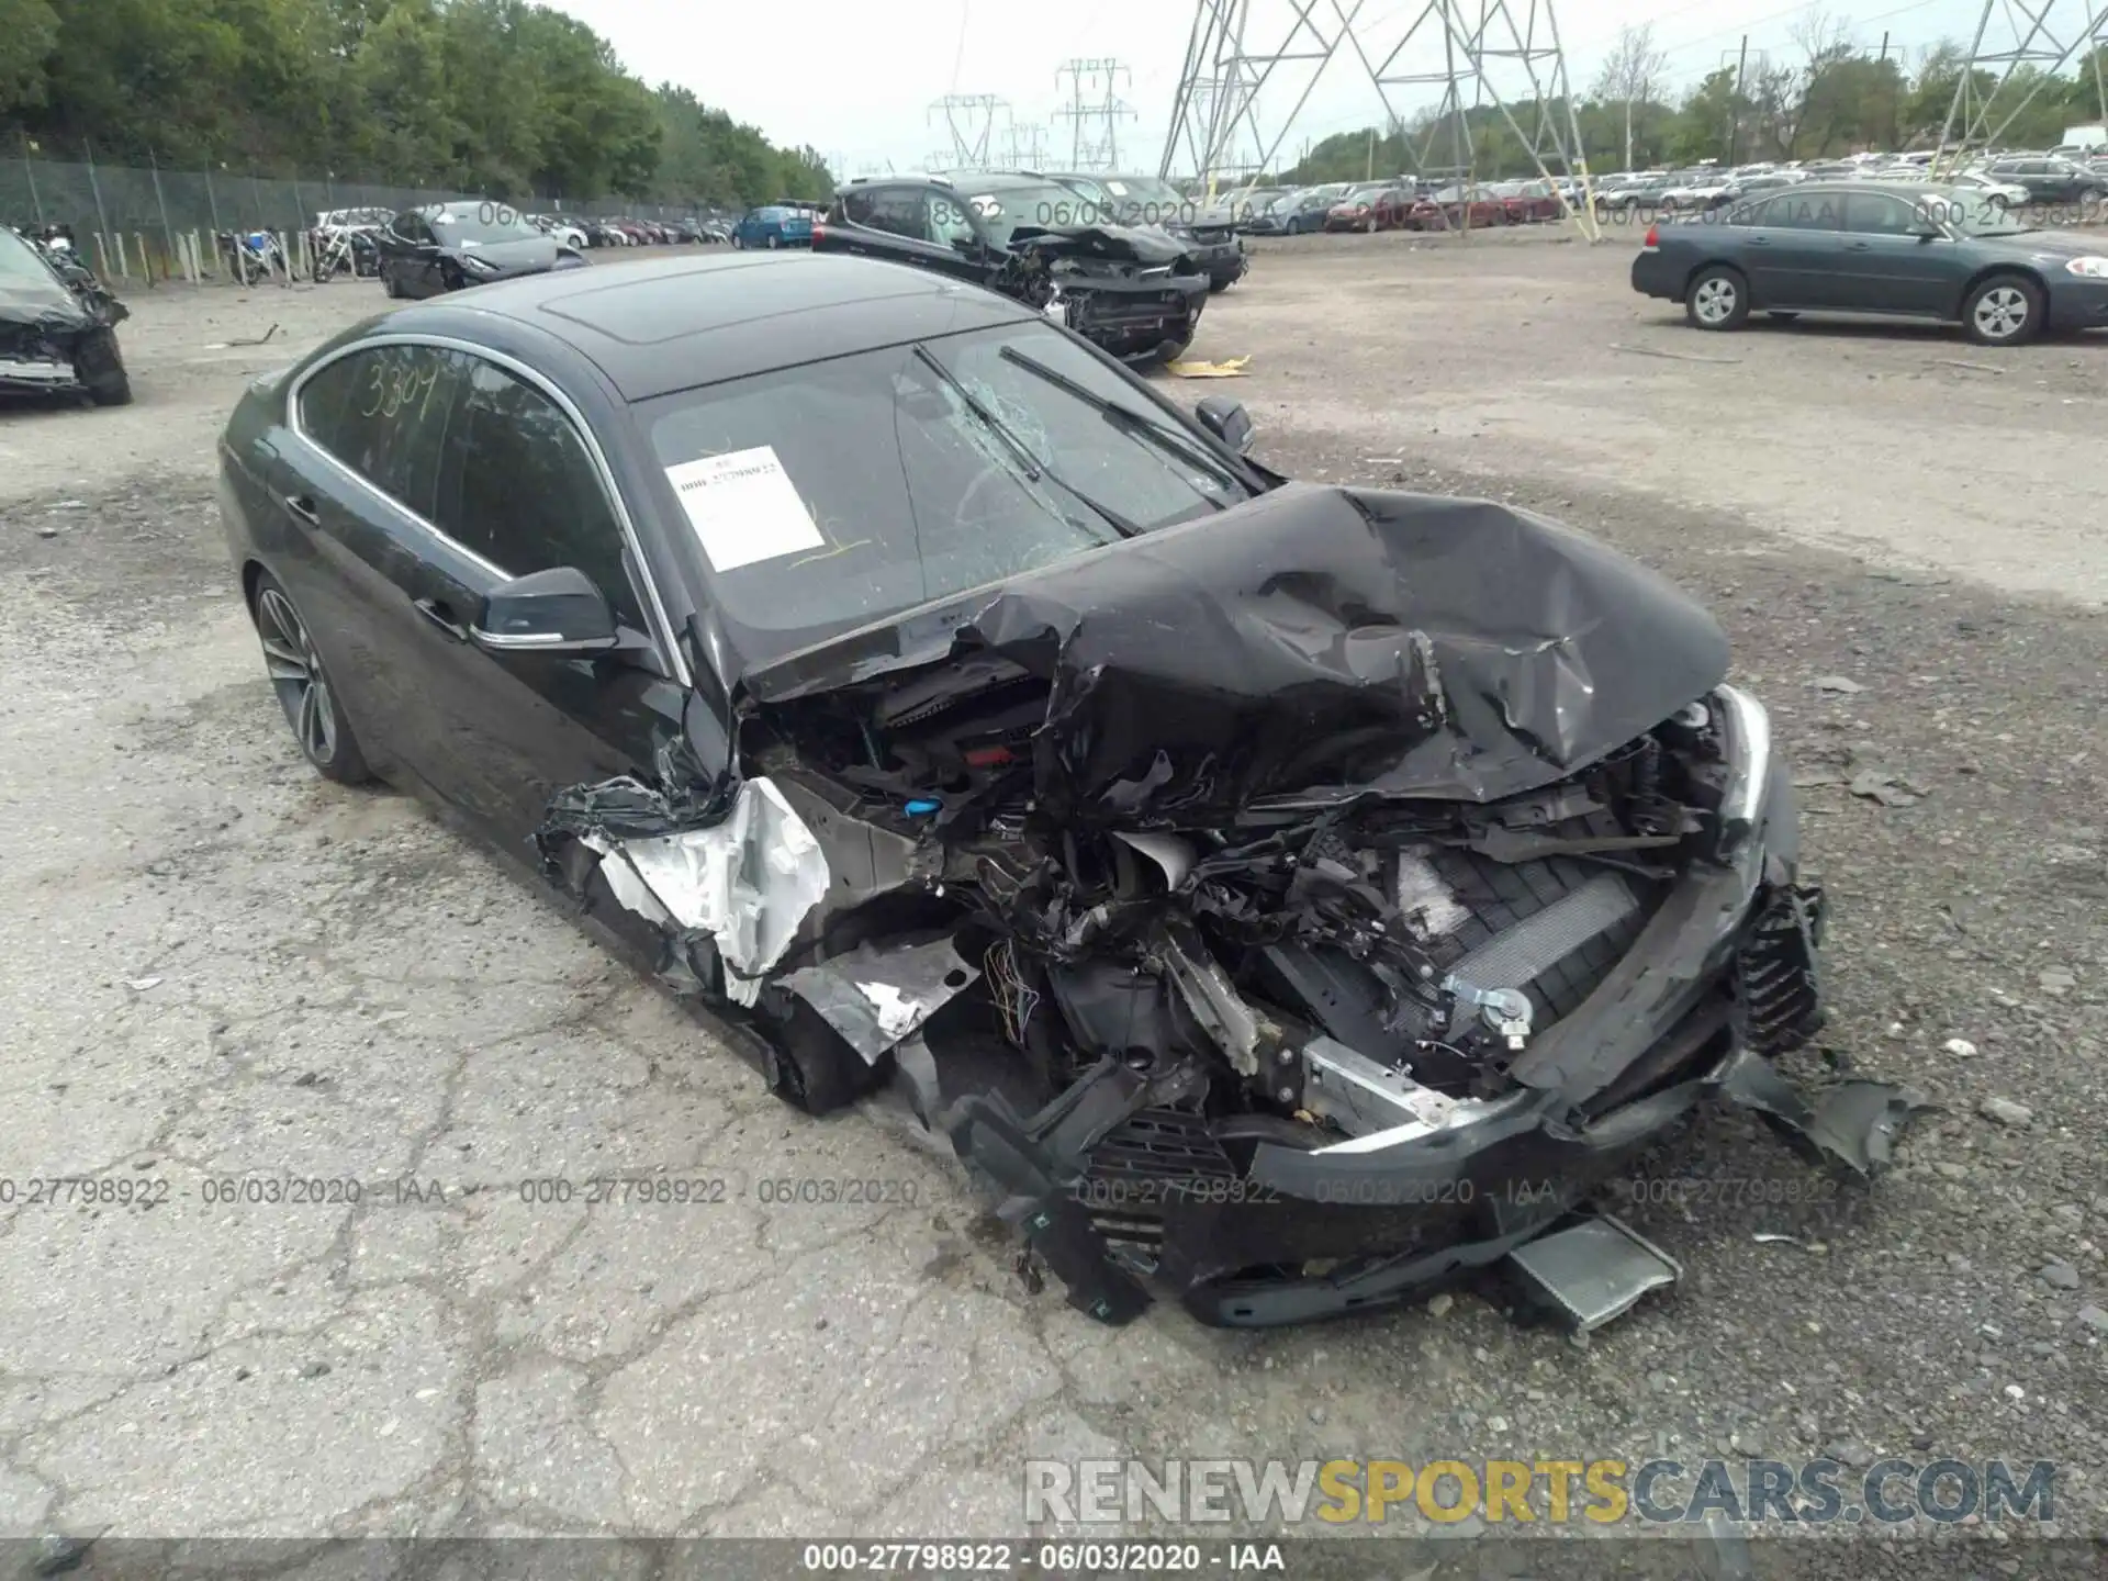
{"label": "black roof with sunroof panel on the wrecked foreground sedan", "polygon": [[906,264],[793,249],[529,274],[398,308],[382,325],[436,335],[455,333],[464,316],[504,318],[569,346],[635,405],[1037,314]]}

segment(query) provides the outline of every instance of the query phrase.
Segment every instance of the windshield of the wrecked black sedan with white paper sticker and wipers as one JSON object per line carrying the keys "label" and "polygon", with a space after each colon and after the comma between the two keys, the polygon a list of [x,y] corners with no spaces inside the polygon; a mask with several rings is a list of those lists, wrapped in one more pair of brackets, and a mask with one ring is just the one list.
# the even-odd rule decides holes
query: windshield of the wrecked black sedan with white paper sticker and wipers
{"label": "windshield of the wrecked black sedan with white paper sticker and wipers", "polygon": [[1037,323],[689,390],[641,417],[715,607],[776,651],[1250,493],[1149,392]]}

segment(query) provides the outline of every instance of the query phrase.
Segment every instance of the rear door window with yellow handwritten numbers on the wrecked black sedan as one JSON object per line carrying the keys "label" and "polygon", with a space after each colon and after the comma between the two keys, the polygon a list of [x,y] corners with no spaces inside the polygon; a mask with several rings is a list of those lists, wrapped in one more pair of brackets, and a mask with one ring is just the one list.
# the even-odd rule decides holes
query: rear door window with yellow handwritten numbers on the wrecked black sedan
{"label": "rear door window with yellow handwritten numbers on the wrecked black sedan", "polygon": [[299,388],[299,430],[419,516],[447,445],[457,358],[436,346],[375,346]]}

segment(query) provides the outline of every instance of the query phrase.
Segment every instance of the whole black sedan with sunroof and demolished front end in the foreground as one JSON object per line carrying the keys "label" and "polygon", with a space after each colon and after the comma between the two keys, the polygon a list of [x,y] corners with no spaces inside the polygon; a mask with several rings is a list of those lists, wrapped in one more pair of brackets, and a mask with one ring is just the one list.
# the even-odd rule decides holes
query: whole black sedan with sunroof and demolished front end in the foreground
{"label": "whole black sedan with sunroof and demolished front end in the foreground", "polygon": [[1488,502],[1288,481],[1014,299],[550,274],[259,382],[221,504],[325,776],[529,858],[828,1111],[885,1084],[1077,1307],[1674,1277],[1606,1176],[1819,1102],[1821,896],[1697,605]]}

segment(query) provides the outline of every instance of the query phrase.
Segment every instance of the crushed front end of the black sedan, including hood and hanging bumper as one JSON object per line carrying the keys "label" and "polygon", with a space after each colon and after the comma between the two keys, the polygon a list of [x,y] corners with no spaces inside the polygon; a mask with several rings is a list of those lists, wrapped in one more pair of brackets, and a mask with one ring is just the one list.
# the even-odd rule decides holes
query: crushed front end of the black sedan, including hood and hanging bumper
{"label": "crushed front end of the black sedan, including hood and hanging bumper", "polygon": [[736,774],[580,788],[544,852],[793,1100],[896,1084],[1100,1320],[1511,1258],[1587,1326],[1674,1277],[1592,1195],[1701,1102],[1859,1172],[1916,1107],[1777,1073],[1823,1014],[1785,765],[1718,626],[1592,540],[1290,485],[904,630],[746,677]]}

